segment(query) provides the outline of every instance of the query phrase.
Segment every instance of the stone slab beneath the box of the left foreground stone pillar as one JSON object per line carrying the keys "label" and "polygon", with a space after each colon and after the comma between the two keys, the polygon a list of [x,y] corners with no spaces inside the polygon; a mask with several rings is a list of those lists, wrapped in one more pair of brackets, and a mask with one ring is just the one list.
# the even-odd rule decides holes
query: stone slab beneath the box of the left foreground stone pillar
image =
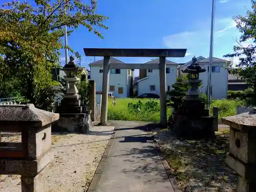
{"label": "stone slab beneath the box of the left foreground stone pillar", "polygon": [[52,151],[47,152],[40,159],[0,159],[0,175],[22,175],[34,177],[41,172],[54,158]]}

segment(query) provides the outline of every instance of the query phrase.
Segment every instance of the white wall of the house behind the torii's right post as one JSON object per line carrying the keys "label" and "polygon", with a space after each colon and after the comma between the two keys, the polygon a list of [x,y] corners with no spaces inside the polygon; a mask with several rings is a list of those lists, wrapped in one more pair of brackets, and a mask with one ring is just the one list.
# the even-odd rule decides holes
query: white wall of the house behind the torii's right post
{"label": "white wall of the house behind the torii's right post", "polygon": [[[176,73],[177,73],[177,66],[176,65],[166,65],[166,68],[170,68],[170,73],[166,73],[166,91],[168,86],[170,89],[173,89],[172,84],[176,82]],[[152,70],[152,73],[147,74],[148,78],[143,79],[138,82],[138,96],[144,93],[154,93],[160,94],[160,78],[159,78],[159,70],[155,69]],[[155,85],[155,91],[150,90],[150,86]]]}

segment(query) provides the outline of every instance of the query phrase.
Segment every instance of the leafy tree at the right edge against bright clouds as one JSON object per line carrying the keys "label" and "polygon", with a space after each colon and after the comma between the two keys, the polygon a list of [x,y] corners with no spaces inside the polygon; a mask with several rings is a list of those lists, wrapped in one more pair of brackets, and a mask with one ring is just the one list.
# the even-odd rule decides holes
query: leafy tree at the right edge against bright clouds
{"label": "leafy tree at the right edge against bright clouds", "polygon": [[[224,57],[240,57],[239,63],[233,66],[229,65],[229,72],[242,77],[256,94],[256,1],[251,1],[252,10],[248,10],[246,16],[238,15],[233,17],[237,23],[238,30],[242,33],[237,39],[237,45],[233,47],[232,54],[226,54]],[[252,40],[253,43],[245,46],[246,42]]]}

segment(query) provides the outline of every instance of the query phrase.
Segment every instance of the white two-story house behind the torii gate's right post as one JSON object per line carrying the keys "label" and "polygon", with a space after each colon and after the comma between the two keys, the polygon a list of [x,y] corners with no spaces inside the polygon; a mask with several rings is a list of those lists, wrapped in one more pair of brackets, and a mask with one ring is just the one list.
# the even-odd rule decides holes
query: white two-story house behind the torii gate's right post
{"label": "white two-story house behind the torii gate's right post", "polygon": [[[146,63],[159,63],[159,59],[153,59]],[[166,60],[166,91],[173,89],[172,85],[176,82],[178,63]],[[160,78],[158,69],[140,70],[138,83],[138,96],[144,93],[160,94]]]}

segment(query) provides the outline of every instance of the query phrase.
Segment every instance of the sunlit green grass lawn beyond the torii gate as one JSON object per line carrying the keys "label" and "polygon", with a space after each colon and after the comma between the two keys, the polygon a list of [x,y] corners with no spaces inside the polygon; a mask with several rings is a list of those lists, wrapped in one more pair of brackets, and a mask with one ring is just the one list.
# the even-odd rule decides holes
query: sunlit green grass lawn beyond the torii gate
{"label": "sunlit green grass lawn beyond the torii gate", "polygon": [[[160,108],[158,104],[159,110],[156,112],[147,111],[144,109],[144,105],[142,105],[142,109],[140,111],[134,111],[128,109],[128,103],[133,102],[136,104],[138,101],[145,103],[150,100],[157,101],[159,103],[159,99],[137,99],[137,98],[116,98],[116,106],[112,104],[111,99],[108,104],[108,119],[109,120],[126,120],[126,121],[160,121]],[[237,105],[241,105],[242,102],[237,100],[212,100],[210,114],[212,114],[212,106],[218,106],[219,108],[219,120],[222,117],[227,117],[231,115],[236,115]],[[170,108],[167,108],[167,119],[170,116]]]}

